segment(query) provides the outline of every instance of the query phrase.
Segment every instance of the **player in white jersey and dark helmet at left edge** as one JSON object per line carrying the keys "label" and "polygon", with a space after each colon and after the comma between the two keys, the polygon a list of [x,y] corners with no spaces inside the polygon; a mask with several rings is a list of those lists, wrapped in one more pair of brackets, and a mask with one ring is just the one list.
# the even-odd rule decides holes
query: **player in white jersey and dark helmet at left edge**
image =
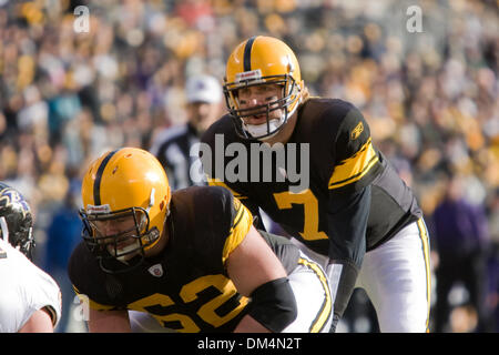
{"label": "player in white jersey and dark helmet at left edge", "polygon": [[61,318],[61,292],[31,262],[30,205],[0,182],[0,333],[52,333]]}

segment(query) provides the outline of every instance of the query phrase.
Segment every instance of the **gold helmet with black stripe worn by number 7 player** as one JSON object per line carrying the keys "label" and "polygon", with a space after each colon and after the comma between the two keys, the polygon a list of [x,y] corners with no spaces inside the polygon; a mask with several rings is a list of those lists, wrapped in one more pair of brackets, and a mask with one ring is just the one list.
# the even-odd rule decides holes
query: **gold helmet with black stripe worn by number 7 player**
{"label": "gold helmet with black stripe worn by number 7 player", "polygon": [[[249,109],[240,106],[237,91],[242,88],[278,84],[281,99]],[[298,60],[283,41],[272,37],[252,37],[236,47],[227,60],[224,94],[230,113],[235,120],[236,132],[244,139],[265,140],[279,131],[302,101],[303,81]],[[271,122],[268,113],[283,109],[278,122]],[[266,114],[266,130],[253,129],[244,118]],[[252,133],[253,132],[253,133]],[[259,132],[259,133],[255,133]]]}

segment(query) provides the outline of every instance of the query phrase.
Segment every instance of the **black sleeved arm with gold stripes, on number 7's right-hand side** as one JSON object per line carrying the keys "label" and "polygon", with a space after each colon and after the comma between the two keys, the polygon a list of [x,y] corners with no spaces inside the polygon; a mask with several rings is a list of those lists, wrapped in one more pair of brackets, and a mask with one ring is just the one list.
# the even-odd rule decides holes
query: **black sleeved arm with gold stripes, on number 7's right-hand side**
{"label": "black sleeved arm with gold stripes, on number 7's right-hand side", "polygon": [[348,304],[366,253],[370,183],[383,166],[366,120],[352,105],[338,125],[330,151],[334,169],[328,182],[327,273],[335,297],[336,323]]}

